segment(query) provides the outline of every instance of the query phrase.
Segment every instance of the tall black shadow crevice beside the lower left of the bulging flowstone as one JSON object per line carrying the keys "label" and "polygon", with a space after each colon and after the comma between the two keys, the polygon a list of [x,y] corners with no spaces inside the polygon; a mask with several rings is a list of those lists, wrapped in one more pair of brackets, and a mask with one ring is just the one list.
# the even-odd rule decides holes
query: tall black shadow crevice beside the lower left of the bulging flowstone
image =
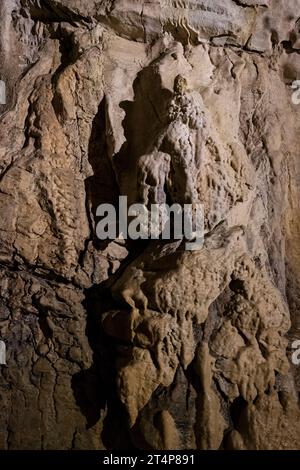
{"label": "tall black shadow crevice beside the lower left of the bulging flowstone", "polygon": [[103,314],[116,308],[109,287],[93,286],[86,291],[83,303],[87,315],[86,335],[93,350],[93,365],[73,377],[72,387],[76,403],[87,419],[87,427],[97,423],[101,410],[107,410],[102,440],[107,449],[134,448],[128,432],[128,416],[117,395],[116,362],[120,348],[127,344],[108,337],[101,328]]}

